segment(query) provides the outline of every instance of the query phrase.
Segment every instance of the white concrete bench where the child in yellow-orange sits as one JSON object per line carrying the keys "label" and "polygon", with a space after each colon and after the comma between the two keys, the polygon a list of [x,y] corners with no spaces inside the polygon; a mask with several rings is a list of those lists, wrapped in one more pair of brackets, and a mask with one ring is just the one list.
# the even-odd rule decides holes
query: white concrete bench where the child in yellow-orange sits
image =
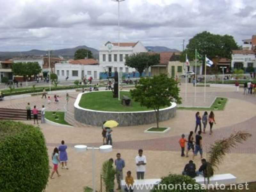
{"label": "white concrete bench where the child in yellow-orange sits", "polygon": [[[150,192],[153,189],[154,185],[158,184],[161,179],[143,179],[143,180],[134,180],[133,192]],[[124,191],[125,180],[121,180],[121,189]]]}

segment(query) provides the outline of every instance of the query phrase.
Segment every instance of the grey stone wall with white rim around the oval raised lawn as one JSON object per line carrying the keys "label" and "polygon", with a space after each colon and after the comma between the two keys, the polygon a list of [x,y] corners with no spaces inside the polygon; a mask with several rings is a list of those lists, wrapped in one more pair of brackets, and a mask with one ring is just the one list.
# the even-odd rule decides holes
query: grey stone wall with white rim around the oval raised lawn
{"label": "grey stone wall with white rim around the oval raised lawn", "polygon": [[[75,119],[86,125],[102,126],[102,123],[106,120],[115,120],[119,123],[118,126],[136,126],[145,125],[150,123],[156,123],[156,112],[150,111],[127,111],[128,107],[125,107],[126,111],[99,111],[87,109],[79,106],[80,100],[83,94],[101,94],[101,92],[86,92],[78,94],[74,108]],[[111,92],[111,91],[108,91]],[[127,91],[127,93],[129,93]],[[104,98],[102,98],[104,99]],[[117,99],[117,98],[114,98]],[[121,101],[119,101],[121,103]],[[95,102],[97,103],[97,101]],[[132,101],[132,105],[134,102]],[[124,107],[123,107],[124,108]],[[176,103],[171,103],[170,107],[166,107],[159,110],[159,122],[165,121],[176,116]]]}

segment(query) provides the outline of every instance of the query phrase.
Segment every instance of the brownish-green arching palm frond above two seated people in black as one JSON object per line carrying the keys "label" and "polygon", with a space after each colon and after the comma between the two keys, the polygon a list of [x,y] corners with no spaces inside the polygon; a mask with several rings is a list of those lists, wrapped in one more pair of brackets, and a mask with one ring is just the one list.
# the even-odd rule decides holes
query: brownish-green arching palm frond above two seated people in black
{"label": "brownish-green arching palm frond above two seated people in black", "polygon": [[226,153],[229,153],[232,148],[236,148],[238,143],[246,141],[251,136],[252,134],[250,133],[238,131],[231,134],[228,138],[218,140],[210,145],[207,157],[213,171],[218,169]]}

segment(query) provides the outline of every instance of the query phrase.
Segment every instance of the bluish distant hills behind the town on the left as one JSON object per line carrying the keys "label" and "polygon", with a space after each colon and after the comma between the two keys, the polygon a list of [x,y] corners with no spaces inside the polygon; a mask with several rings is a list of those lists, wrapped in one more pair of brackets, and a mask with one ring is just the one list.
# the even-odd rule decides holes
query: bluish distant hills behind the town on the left
{"label": "bluish distant hills behind the town on the left", "polygon": [[[68,49],[52,50],[51,54],[56,57],[61,55],[64,58],[74,58],[74,54],[78,49],[90,50],[92,51],[93,57],[96,59],[99,59],[99,51],[97,49],[87,47],[85,45],[74,47],[74,48],[68,48]],[[48,54],[48,51],[36,50],[36,49],[29,50],[29,51],[9,51],[9,52],[0,51],[0,60],[13,58],[13,57],[20,57],[20,56],[40,56],[40,55],[45,56],[46,54]]]}

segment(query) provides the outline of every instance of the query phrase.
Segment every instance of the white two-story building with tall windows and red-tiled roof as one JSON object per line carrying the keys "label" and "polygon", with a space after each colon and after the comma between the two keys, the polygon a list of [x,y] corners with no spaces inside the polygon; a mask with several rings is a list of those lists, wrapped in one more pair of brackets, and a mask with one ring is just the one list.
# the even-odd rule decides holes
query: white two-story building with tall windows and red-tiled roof
{"label": "white two-story building with tall windows and red-tiled roof", "polygon": [[[107,42],[99,49],[99,62],[102,67],[101,78],[106,78],[108,74],[114,75],[115,71],[123,73],[133,73],[139,76],[139,73],[131,67],[125,66],[125,58],[133,53],[148,52],[143,44],[138,42],[120,42],[119,47],[116,42]],[[107,72],[107,73],[106,73]],[[135,72],[135,73],[134,73]]]}

